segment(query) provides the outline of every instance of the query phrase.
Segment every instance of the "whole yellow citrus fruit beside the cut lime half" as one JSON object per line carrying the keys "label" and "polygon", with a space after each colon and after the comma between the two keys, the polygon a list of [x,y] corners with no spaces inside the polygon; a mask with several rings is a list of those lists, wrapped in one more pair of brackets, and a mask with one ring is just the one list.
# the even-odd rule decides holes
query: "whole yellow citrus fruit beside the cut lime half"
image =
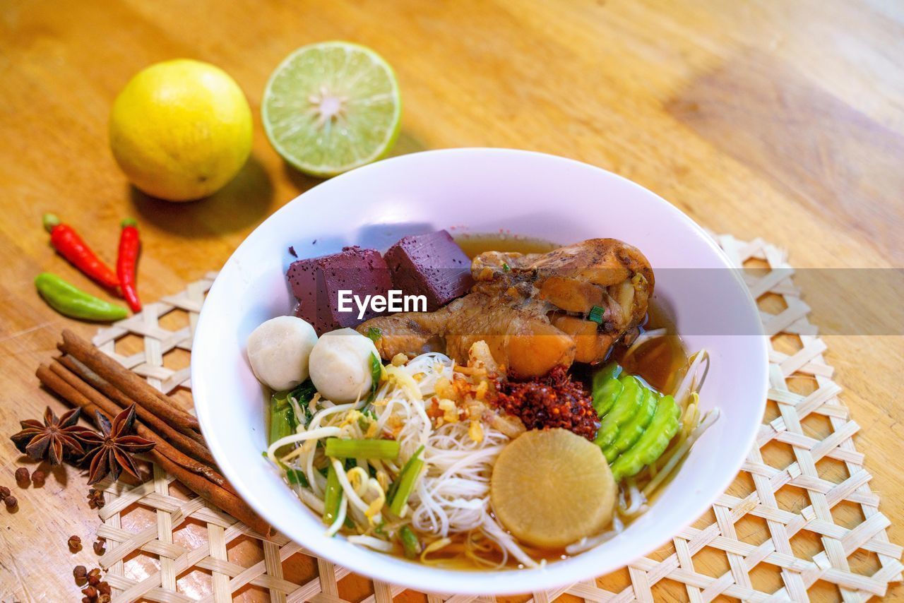
{"label": "whole yellow citrus fruit beside the cut lime half", "polygon": [[139,71],[110,112],[110,148],[137,188],[168,201],[219,190],[251,151],[251,109],[239,85],[201,61]]}

